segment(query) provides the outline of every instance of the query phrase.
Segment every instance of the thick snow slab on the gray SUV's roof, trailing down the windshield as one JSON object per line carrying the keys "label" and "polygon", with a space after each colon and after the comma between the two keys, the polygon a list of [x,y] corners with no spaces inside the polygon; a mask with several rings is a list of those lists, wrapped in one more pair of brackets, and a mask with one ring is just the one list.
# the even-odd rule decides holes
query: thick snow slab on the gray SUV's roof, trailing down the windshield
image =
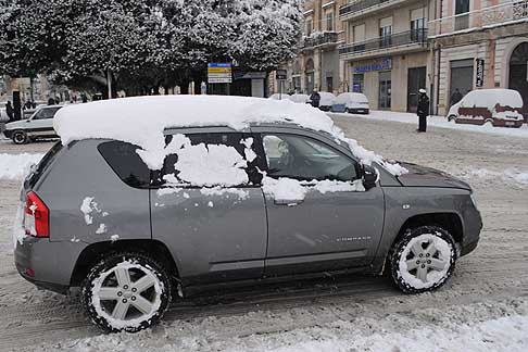
{"label": "thick snow slab on the gray SUV's roof, trailing down the windshield", "polygon": [[228,126],[241,130],[252,123],[290,123],[325,131],[347,142],[362,163],[377,162],[394,175],[405,172],[345,138],[324,112],[289,100],[225,96],[133,97],[67,105],[53,118],[53,127],[63,144],[89,138],[129,142],[139,146],[143,155],[149,155],[143,161],[152,169],[163,165],[166,128]]}

